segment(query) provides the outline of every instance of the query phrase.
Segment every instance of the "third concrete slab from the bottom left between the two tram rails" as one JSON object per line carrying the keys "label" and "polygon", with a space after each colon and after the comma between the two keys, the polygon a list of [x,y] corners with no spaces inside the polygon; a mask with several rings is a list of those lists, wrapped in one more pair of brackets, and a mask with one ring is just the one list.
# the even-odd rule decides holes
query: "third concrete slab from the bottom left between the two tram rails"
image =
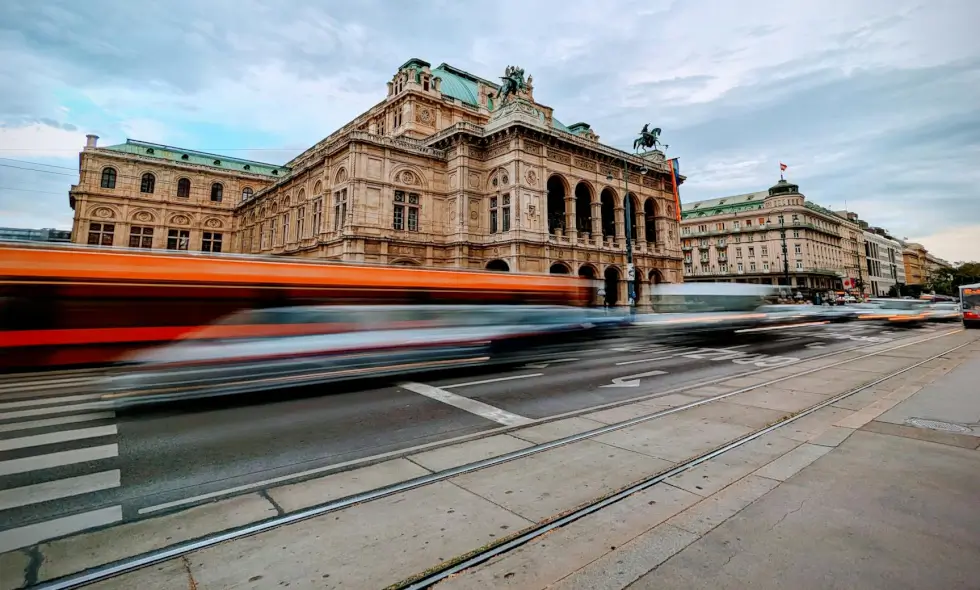
{"label": "third concrete slab from the bottom left between the two tram rails", "polygon": [[537,522],[671,465],[662,459],[588,440],[460,475],[450,481]]}

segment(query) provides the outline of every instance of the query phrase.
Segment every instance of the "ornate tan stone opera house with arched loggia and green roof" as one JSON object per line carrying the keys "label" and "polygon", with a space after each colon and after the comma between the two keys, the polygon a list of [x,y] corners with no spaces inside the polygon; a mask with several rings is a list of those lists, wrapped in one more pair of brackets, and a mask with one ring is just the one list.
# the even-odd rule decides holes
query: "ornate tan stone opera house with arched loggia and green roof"
{"label": "ornate tan stone opera house with arched loggia and green roof", "polygon": [[[638,300],[644,285],[683,280],[663,154],[631,155],[599,143],[586,123],[563,125],[535,102],[530,83],[506,100],[497,93],[487,80],[413,59],[388,83],[385,100],[285,166],[240,160],[235,171],[191,171],[171,159],[152,168],[168,187],[152,196],[139,191],[148,158],[87,147],[82,183],[72,189],[74,235],[90,241],[89,224],[135,224],[145,212],[161,233],[189,228],[192,250],[203,248],[210,228],[222,230],[224,251],[579,274],[606,279],[607,302],[616,304],[626,299],[629,195]],[[109,165],[128,184],[101,189]],[[188,202],[175,196],[181,174],[198,191]],[[226,198],[215,203],[207,187],[218,179]],[[254,193],[242,199],[246,185]],[[99,217],[103,209],[111,215]],[[129,245],[118,234],[114,243]],[[155,231],[153,247],[167,246]]]}

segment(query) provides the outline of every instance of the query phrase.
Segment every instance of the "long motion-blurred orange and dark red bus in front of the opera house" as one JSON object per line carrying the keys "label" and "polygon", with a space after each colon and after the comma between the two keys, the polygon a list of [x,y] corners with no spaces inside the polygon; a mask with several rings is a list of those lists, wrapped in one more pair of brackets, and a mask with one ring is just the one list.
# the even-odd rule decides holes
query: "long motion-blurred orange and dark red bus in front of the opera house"
{"label": "long motion-blurred orange and dark red bus in front of the opera house", "polygon": [[246,309],[588,296],[581,279],[557,275],[0,243],[0,371],[109,363]]}

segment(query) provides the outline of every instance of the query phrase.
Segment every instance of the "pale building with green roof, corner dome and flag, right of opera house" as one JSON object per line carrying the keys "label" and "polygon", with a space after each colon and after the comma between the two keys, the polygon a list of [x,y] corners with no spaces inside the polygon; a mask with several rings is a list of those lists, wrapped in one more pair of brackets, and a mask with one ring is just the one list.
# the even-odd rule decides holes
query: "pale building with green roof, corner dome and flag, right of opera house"
{"label": "pale building with green roof, corner dome and flag, right of opera house", "polygon": [[856,228],[786,180],[767,191],[685,203],[684,274],[688,281],[784,285],[803,295],[839,289],[849,273],[857,275],[863,235],[859,241]]}

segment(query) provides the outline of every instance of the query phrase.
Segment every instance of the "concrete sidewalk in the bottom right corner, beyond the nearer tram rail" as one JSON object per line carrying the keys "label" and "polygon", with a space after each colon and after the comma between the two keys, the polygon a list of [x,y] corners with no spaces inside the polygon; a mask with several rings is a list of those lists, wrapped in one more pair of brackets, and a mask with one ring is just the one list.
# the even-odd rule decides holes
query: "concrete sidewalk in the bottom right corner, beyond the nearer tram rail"
{"label": "concrete sidewalk in the bottom right corner, beyond the nearer tram rail", "polygon": [[690,508],[717,466],[439,588],[980,588],[980,343],[928,367]]}

